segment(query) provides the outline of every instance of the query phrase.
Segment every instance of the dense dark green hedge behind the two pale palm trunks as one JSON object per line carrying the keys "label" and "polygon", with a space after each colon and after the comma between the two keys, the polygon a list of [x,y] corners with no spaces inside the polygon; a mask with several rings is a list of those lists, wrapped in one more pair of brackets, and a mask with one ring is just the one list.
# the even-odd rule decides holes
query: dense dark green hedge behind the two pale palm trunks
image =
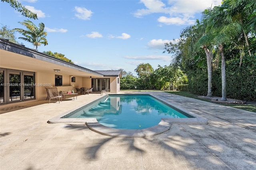
{"label": "dense dark green hedge behind the two pale palm trunks", "polygon": [[[239,60],[226,62],[227,98],[256,101],[256,57],[239,67]],[[207,70],[197,68],[188,72],[189,91],[197,95],[207,95]],[[212,95],[221,97],[221,69],[212,70]]]}

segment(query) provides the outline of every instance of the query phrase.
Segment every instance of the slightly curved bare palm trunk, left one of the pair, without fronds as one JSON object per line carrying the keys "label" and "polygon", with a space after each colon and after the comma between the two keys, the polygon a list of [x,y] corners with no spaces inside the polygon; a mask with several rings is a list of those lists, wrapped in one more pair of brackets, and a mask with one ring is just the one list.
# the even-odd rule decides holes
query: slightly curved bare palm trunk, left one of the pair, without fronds
{"label": "slightly curved bare palm trunk, left one of the pair, without fronds", "polygon": [[208,91],[207,91],[207,97],[212,96],[212,53],[209,51],[209,49],[204,45],[202,47],[206,54],[206,60],[207,60],[207,71],[208,71]]}

